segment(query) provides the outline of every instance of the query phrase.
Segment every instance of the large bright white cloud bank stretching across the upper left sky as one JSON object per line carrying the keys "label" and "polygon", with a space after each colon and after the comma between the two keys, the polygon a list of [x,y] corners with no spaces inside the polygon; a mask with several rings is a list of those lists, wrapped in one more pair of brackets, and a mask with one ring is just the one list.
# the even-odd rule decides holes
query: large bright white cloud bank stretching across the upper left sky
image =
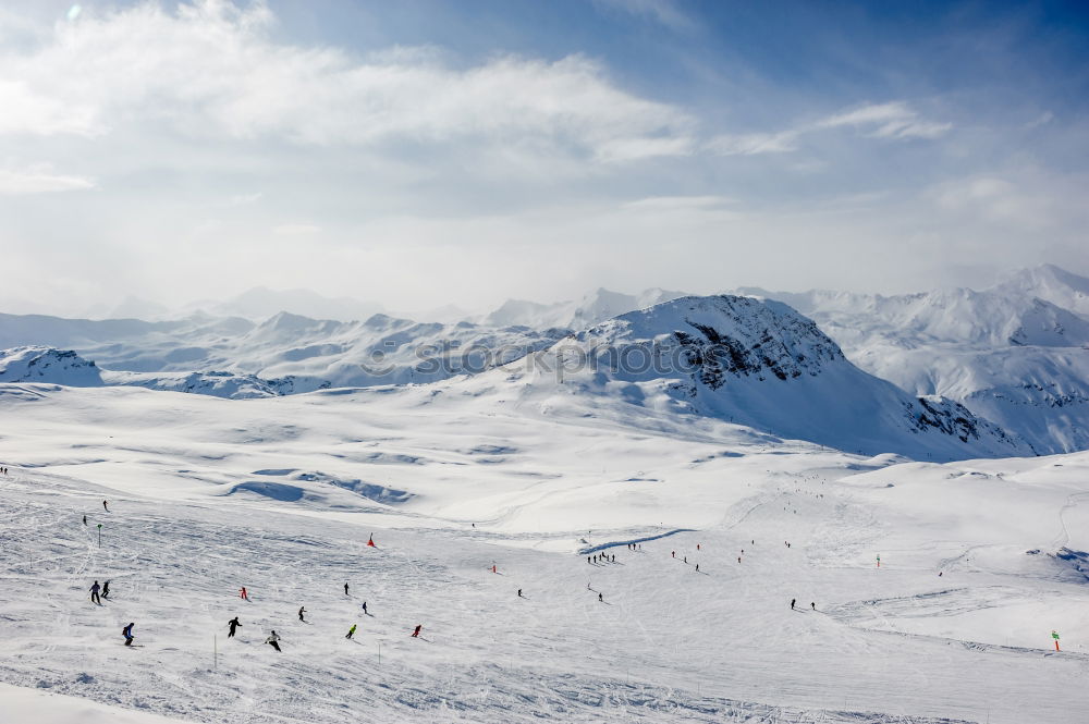
{"label": "large bright white cloud bank stretching across the upper left sky", "polygon": [[58,24],[0,54],[0,134],[97,136],[121,123],[303,145],[531,139],[604,161],[687,152],[692,120],[616,87],[596,62],[510,56],[467,69],[433,52],[369,58],[269,36],[264,3],[139,4]]}

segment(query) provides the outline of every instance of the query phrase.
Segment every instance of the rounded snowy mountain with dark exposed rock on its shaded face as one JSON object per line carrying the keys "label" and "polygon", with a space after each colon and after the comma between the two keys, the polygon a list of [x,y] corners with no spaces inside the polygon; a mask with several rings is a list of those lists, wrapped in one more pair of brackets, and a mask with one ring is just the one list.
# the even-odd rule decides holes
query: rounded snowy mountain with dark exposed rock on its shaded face
{"label": "rounded snowy mountain with dark exposed rock on its shaded face", "polygon": [[812,320],[752,297],[683,297],[622,315],[492,375],[511,369],[515,384],[709,416],[865,454],[1035,452],[955,402],[916,398],[864,372]]}

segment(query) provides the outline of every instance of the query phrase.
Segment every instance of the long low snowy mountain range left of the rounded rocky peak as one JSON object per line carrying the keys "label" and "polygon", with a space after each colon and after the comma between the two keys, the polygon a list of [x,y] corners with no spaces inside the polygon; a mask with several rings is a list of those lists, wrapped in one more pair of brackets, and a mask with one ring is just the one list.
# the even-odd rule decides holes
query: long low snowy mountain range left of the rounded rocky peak
{"label": "long low snowy mountain range left of the rounded rocky peak", "polygon": [[420,323],[386,315],[340,322],[280,312],[260,323],[208,315],[161,322],[0,315],[0,348],[30,344],[74,349],[115,371],[225,371],[270,384],[289,378],[292,392],[431,382],[479,372],[542,349],[567,333]]}

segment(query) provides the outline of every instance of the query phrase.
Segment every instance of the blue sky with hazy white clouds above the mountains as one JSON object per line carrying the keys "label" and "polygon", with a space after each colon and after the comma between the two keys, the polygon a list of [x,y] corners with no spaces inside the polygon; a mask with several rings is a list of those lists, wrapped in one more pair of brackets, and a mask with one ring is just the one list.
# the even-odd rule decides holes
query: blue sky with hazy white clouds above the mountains
{"label": "blue sky with hazy white clouds above the mountains", "polygon": [[1089,274],[1079,2],[0,4],[0,310]]}

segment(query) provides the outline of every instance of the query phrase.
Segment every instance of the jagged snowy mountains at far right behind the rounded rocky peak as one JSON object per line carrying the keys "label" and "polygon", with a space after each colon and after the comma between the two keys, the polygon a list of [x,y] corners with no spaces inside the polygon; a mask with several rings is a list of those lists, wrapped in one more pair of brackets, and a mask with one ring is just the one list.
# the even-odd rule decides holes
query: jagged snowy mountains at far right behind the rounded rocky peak
{"label": "jagged snowy mountains at far right behind the rounded rocky peak", "polygon": [[1041,453],[1089,447],[1089,279],[1043,266],[979,292],[742,292],[792,305],[868,372],[955,400]]}

